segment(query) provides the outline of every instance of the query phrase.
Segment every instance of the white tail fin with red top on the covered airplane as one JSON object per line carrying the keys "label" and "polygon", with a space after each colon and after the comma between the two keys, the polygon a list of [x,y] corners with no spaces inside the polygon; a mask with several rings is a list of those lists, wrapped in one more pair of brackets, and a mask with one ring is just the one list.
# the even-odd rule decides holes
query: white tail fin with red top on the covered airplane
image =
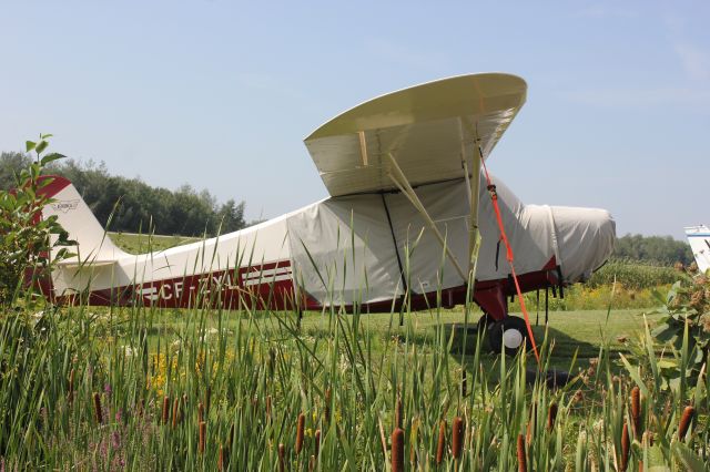
{"label": "white tail fin with red top on the covered airplane", "polygon": [[42,208],[42,216],[55,215],[59,224],[69,233],[69,238],[78,244],[75,249],[71,249],[78,257],[64,260],[62,265],[106,264],[126,255],[109,238],[71,182],[55,175],[42,178],[52,179],[41,192],[53,199]]}

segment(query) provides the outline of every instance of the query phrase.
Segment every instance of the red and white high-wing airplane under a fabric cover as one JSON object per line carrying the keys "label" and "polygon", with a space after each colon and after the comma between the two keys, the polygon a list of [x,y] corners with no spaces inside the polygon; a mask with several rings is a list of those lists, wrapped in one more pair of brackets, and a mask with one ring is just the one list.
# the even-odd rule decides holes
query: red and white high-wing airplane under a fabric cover
{"label": "red and white high-wing airplane under a fabric cover", "polygon": [[43,216],[58,216],[78,254],[58,264],[44,290],[93,305],[362,312],[473,299],[498,345],[515,350],[527,334],[508,316],[508,297],[588,279],[615,243],[607,211],[525,205],[487,172],[526,95],[516,75],[480,73],[367,101],[305,138],[329,197],[142,255],[106,237],[69,181],[48,177],[53,203]]}

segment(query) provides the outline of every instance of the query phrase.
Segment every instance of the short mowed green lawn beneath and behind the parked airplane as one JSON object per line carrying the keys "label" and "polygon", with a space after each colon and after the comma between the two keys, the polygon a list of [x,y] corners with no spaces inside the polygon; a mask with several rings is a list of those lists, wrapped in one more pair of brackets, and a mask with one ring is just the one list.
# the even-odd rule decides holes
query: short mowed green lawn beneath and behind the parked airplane
{"label": "short mowed green lawn beneath and behind the parked airplane", "polygon": [[[660,315],[649,314],[652,309],[646,310],[646,319],[652,327],[660,318]],[[187,310],[156,310],[155,322],[153,324],[151,346],[163,349],[180,342],[183,334],[186,332],[187,325],[196,319]],[[220,319],[221,317],[221,319]],[[241,324],[242,329],[252,329],[254,335],[265,342],[278,342],[284,337],[294,336],[296,325],[295,314],[292,312],[237,312],[223,311],[220,315],[207,314],[204,317],[204,329],[206,336],[217,336],[217,328],[221,326],[224,336],[230,338]],[[419,311],[404,316],[404,326],[399,326],[399,315],[395,314],[371,314],[362,315],[361,336],[369,337],[372,340],[372,349],[374,353],[382,352],[387,342],[409,342],[418,345],[420,351],[427,351],[428,348],[437,342],[437,327],[443,326],[446,339],[449,340],[452,332],[454,335],[452,341],[450,356],[454,365],[462,361],[467,363],[467,370],[470,370],[470,361],[476,346],[476,321],[479,314],[471,314],[469,319],[468,337],[466,340],[466,356],[462,357],[460,346],[464,343],[464,314],[463,309],[442,310],[438,315],[435,312]],[[535,338],[538,346],[546,336],[546,327],[544,325],[545,314],[540,314],[540,325],[535,325],[535,312],[531,314],[531,324]],[[344,325],[351,325],[353,315],[344,315],[342,318]],[[327,314],[306,312],[301,320],[301,332],[313,341],[317,339],[325,340],[333,330],[328,327],[334,322]],[[599,355],[602,345],[609,346],[613,352],[625,352],[628,350],[628,342],[633,341],[643,334],[645,315],[643,310],[611,310],[607,318],[607,310],[584,310],[584,311],[552,311],[549,314],[549,326],[547,336],[554,341],[552,356],[550,357],[550,366],[557,369],[577,372],[578,369],[585,369],[589,366],[589,359],[594,359]],[[229,341],[227,341],[229,342]],[[308,341],[311,342],[311,341]],[[321,343],[323,347],[327,342]],[[576,358],[576,363],[571,361]],[[612,355],[617,358],[617,355]],[[497,356],[486,353],[483,357],[485,365],[494,366]],[[530,358],[530,362],[532,359]]]}

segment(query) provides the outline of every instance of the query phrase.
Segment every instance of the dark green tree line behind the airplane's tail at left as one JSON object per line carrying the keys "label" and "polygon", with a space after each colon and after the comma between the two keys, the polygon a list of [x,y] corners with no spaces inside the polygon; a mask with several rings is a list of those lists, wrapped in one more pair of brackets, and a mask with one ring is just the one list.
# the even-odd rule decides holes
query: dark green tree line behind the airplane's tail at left
{"label": "dark green tree line behind the airplane's tail at left", "polygon": [[[0,186],[14,186],[14,175],[32,162],[28,154],[2,152]],[[99,222],[112,232],[182,236],[216,235],[242,229],[244,202],[217,203],[206,189],[190,185],[175,191],[153,187],[140,178],[109,174],[103,163],[62,160],[50,165],[49,173],[71,181]]]}

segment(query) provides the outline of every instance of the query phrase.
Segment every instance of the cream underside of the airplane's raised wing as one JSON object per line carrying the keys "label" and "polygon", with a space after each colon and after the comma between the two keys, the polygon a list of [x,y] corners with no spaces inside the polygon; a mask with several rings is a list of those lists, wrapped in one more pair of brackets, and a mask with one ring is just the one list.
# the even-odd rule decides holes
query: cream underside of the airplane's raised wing
{"label": "cream underside of the airplane's raised wing", "polygon": [[394,92],[331,120],[305,140],[332,196],[396,188],[392,155],[412,185],[464,176],[475,145],[486,157],[525,103],[515,75],[462,75]]}

